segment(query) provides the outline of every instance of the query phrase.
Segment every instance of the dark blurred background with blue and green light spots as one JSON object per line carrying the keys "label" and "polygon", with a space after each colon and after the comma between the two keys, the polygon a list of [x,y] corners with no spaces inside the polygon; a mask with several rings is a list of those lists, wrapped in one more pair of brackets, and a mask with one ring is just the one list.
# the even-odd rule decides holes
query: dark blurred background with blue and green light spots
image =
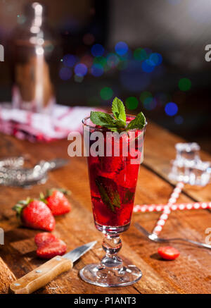
{"label": "dark blurred background with blue and green light spots", "polygon": [[[23,11],[27,2],[0,0],[0,44],[5,47],[0,101],[11,100],[8,50],[13,31],[27,18]],[[47,7],[46,23],[60,37],[60,54],[51,62],[56,68],[58,104],[110,106],[117,96],[127,102],[128,112],[142,110],[156,123],[211,152],[211,63],[205,61],[205,45],[211,44],[210,0],[41,3]],[[127,52],[115,49],[118,42],[127,44]],[[95,44],[101,46],[93,49]],[[101,49],[103,54],[96,55]],[[152,58],[155,53],[159,55]],[[70,54],[75,56],[73,66],[67,61]],[[152,66],[151,59],[161,62],[156,60]],[[86,75],[75,73],[78,63],[87,66]],[[167,105],[170,102],[174,104]]]}

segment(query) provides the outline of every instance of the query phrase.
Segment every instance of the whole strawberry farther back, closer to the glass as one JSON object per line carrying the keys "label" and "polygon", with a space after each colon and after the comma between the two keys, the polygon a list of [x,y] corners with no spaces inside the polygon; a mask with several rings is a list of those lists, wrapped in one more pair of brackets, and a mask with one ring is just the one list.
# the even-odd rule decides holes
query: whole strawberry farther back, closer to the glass
{"label": "whole strawberry farther back, closer to the glass", "polygon": [[[51,213],[54,216],[63,215],[71,211],[70,202],[65,197],[65,194],[69,192],[66,190],[60,190],[52,188],[48,190],[46,197],[44,197],[44,202],[51,209]],[[43,196],[41,195],[41,199]]]}

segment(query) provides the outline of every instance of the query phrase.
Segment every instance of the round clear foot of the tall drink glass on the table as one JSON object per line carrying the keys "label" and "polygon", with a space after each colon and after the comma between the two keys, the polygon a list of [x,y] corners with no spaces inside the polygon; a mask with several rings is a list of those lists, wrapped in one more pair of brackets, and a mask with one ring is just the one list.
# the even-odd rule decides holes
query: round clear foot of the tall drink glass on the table
{"label": "round clear foot of the tall drink glass on the table", "polygon": [[142,273],[134,265],[108,269],[98,264],[89,264],[79,271],[79,275],[87,283],[111,288],[132,285],[141,279]]}

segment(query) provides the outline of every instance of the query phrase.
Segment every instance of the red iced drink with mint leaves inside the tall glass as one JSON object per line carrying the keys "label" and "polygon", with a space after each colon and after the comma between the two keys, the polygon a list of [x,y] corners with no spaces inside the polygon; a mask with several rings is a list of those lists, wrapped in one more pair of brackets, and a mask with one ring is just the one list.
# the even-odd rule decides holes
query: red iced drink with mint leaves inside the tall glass
{"label": "red iced drink with mint leaves inside the tall glass", "polygon": [[[143,132],[136,130],[134,134],[122,133],[121,137],[108,136],[107,139],[106,133],[108,130],[104,129],[104,156],[88,157],[94,220],[97,227],[129,226],[142,155],[143,140],[138,142],[138,138],[143,139]],[[120,147],[119,156],[114,156],[114,153],[111,153],[112,156],[106,156],[108,142],[113,150]],[[124,156],[124,146],[127,148],[128,156]],[[132,164],[132,159],[136,159],[138,155],[139,160]]]}

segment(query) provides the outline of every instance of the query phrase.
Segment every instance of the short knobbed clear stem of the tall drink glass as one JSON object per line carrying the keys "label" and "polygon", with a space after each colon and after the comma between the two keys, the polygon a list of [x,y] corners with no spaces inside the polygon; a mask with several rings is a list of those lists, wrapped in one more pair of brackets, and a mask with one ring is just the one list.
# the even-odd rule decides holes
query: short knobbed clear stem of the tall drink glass
{"label": "short knobbed clear stem of the tall drink glass", "polygon": [[122,259],[117,256],[117,252],[119,252],[122,247],[120,235],[106,233],[102,246],[103,250],[106,252],[106,256],[101,259],[101,266],[110,269],[121,269]]}

